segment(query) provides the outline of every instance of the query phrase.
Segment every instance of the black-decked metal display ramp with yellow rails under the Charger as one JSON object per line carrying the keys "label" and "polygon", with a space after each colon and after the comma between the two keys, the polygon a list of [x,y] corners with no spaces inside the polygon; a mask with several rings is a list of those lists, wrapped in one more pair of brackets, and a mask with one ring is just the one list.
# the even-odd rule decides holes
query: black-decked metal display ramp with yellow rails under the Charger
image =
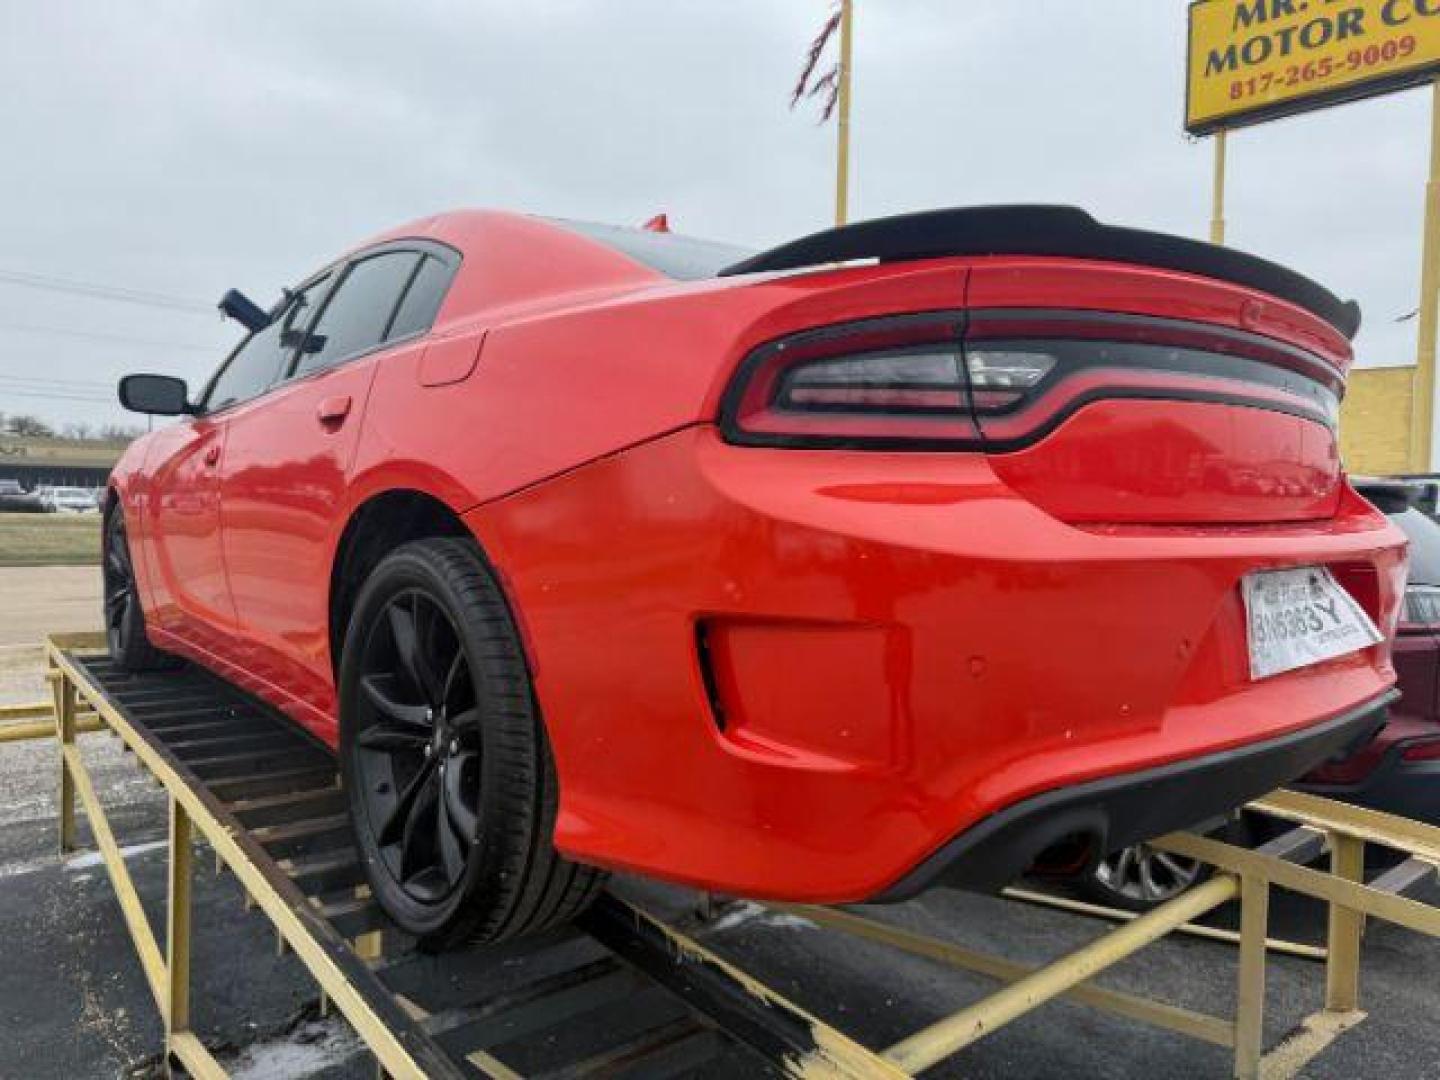
{"label": "black-decked metal display ramp with yellow rails under the Charger", "polygon": [[[1440,867],[1440,829],[1325,799],[1276,793],[1254,809],[1290,822],[1248,850],[1191,834],[1156,847],[1201,858],[1215,877],[1031,968],[916,935],[868,913],[775,906],[821,927],[881,942],[1004,984],[884,1050],[871,1050],[726,962],[693,936],[606,893],[563,933],[444,956],[416,953],[369,899],[350,844],[330,752],[287,720],[194,668],[127,675],[92,636],[53,638],[50,723],[60,744],[60,844],[76,837],[75,805],[91,819],[121,910],[161,1017],[173,1064],[192,1076],[226,1073],[190,1028],[192,841],[203,840],[249,901],[308,968],[383,1073],[396,1077],[854,1076],[922,1073],[1048,1001],[1064,996],[1135,1022],[1234,1051],[1240,1077],[1293,1076],[1359,1012],[1367,917],[1440,936],[1440,909],[1405,896]],[[37,716],[12,710],[4,720]],[[76,732],[109,730],[170,798],[168,916],[151,930],[85,770]],[[19,729],[12,729],[19,730]],[[26,737],[33,737],[27,732]],[[19,737],[19,736],[17,736]],[[1364,880],[1365,845],[1400,851],[1394,870]],[[1306,863],[1329,852],[1329,870]],[[1329,904],[1325,1009],[1293,1040],[1263,1045],[1273,887]],[[1215,1017],[1094,985],[1093,978],[1146,945],[1240,901],[1238,1008]],[[1093,909],[1092,912],[1094,913]],[[1211,927],[1204,927],[1214,936]],[[444,978],[436,979],[436,972]],[[517,973],[518,972],[518,973]],[[436,989],[436,988],[442,989]],[[855,1002],[863,1005],[863,1002]],[[549,1038],[564,1031],[560,1041]]]}

